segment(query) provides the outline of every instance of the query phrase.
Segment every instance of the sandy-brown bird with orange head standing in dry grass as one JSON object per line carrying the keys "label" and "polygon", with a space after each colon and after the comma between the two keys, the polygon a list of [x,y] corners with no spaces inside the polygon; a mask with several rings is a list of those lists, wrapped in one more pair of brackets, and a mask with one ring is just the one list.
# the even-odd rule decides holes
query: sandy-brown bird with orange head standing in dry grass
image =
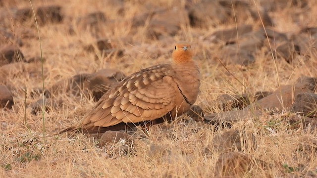
{"label": "sandy-brown bird with orange head standing in dry grass", "polygon": [[172,62],[135,72],[108,90],[82,120],[58,134],[99,134],[171,121],[188,111],[200,92],[192,46],[178,43]]}

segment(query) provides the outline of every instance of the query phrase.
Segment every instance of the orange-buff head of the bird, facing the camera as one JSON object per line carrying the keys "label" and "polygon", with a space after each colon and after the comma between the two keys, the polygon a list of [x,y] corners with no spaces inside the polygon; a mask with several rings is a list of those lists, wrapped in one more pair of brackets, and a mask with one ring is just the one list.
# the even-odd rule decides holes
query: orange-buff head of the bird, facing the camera
{"label": "orange-buff head of the bird, facing the camera", "polygon": [[192,46],[188,43],[176,44],[173,51],[173,62],[181,63],[191,61],[193,57]]}

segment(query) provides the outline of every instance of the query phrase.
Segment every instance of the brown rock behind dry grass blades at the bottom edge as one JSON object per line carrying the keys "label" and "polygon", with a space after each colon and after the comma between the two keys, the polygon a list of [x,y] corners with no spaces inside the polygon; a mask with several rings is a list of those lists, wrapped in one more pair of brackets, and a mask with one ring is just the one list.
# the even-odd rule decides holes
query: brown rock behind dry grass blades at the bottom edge
{"label": "brown rock behind dry grass blades at the bottom edge", "polygon": [[[214,177],[234,176],[242,178],[250,177],[272,177],[268,171],[269,166],[264,161],[254,159],[249,154],[241,152],[229,152],[221,155],[215,164]],[[252,170],[252,171],[250,171]]]}

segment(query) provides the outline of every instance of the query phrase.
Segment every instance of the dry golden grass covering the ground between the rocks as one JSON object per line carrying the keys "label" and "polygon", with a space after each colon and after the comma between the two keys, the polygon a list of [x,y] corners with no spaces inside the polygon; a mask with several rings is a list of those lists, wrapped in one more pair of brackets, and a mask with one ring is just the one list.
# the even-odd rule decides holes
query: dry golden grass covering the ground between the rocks
{"label": "dry golden grass covering the ground between the rocks", "polygon": [[[175,1],[156,0],[154,3],[171,7]],[[131,35],[131,16],[142,12],[145,7],[138,0],[129,0],[126,3],[129,8],[123,16],[118,16],[116,9],[108,6],[106,1],[32,1],[35,8],[40,5],[60,4],[65,16],[72,17],[65,18],[61,24],[39,27],[43,57],[46,59],[45,87],[75,74],[91,73],[105,67],[118,68],[130,74],[144,67],[168,62],[170,49],[173,47],[171,43],[181,40],[191,41],[196,56],[200,56],[197,61],[201,68],[202,85],[196,104],[207,114],[214,112],[215,105],[211,101],[220,94],[272,91],[279,85],[293,84],[303,75],[316,77],[316,59],[305,60],[303,57],[299,59],[300,62],[292,65],[279,58],[274,61],[270,54],[259,51],[256,63],[250,67],[227,66],[230,73],[247,87],[244,88],[217,60],[211,59],[217,53],[214,46],[208,40],[201,40],[218,29],[234,25],[199,29],[183,24],[176,36],[168,40],[153,41],[144,36],[146,27],[139,27],[138,32]],[[30,6],[28,1],[18,3],[18,7],[26,6]],[[312,17],[316,17],[317,4],[312,7],[316,9]],[[73,36],[68,34],[69,24],[75,24],[77,17],[95,10],[101,10],[108,19],[115,20],[113,26],[104,26],[102,34],[113,41],[117,48],[125,49],[123,57],[99,57],[95,60],[94,54],[82,50],[82,45],[95,40],[89,30],[78,31]],[[294,9],[285,8],[278,11],[278,14],[271,14],[276,19],[276,30],[298,30],[298,26],[291,21],[292,10]],[[247,22],[253,23],[252,20]],[[306,19],[306,24],[311,26],[316,22],[316,18]],[[13,33],[22,26],[10,19],[6,19],[4,23],[11,26]],[[32,26],[31,24],[33,23],[24,26]],[[25,42],[26,45],[21,50],[26,57],[40,55],[38,39],[28,39]],[[160,54],[157,59],[151,57],[156,53]],[[178,118],[172,124],[152,127],[148,136],[141,131],[135,132],[133,148],[128,153],[110,154],[111,147],[99,148],[98,139],[86,135],[52,136],[54,131],[77,123],[94,105],[94,101],[85,95],[72,97],[65,94],[53,96],[62,98],[63,105],[53,112],[45,113],[46,133],[43,137],[42,115],[32,115],[31,109],[26,106],[38,99],[31,97],[31,91],[42,87],[41,64],[30,64],[28,69],[20,75],[9,76],[10,85],[16,89],[13,91],[15,105],[12,110],[0,110],[0,177],[212,177],[215,163],[221,154],[221,151],[212,149],[212,139],[229,128],[216,130],[211,125],[196,123],[186,116]],[[283,120],[284,116],[285,113],[281,112],[233,125],[233,129],[250,131],[256,136],[256,150],[244,149],[242,152],[271,165],[271,169],[266,171],[259,171],[259,165],[252,165],[246,177],[254,176],[255,172],[257,177],[317,176],[316,144],[307,141],[310,140],[307,138],[316,139],[316,130],[294,128]],[[164,145],[171,150],[170,160],[150,158],[147,152],[151,144]]]}

